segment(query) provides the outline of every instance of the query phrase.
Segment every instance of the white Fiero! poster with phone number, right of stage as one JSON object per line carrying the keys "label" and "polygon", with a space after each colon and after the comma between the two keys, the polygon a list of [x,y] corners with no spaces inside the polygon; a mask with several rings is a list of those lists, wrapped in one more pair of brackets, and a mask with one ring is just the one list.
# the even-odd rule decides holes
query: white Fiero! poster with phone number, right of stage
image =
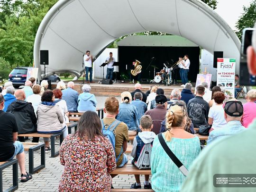
{"label": "white Fiero! poster with phone number, right of stage", "polygon": [[217,58],[217,85],[222,84],[231,97],[235,97],[235,58]]}

